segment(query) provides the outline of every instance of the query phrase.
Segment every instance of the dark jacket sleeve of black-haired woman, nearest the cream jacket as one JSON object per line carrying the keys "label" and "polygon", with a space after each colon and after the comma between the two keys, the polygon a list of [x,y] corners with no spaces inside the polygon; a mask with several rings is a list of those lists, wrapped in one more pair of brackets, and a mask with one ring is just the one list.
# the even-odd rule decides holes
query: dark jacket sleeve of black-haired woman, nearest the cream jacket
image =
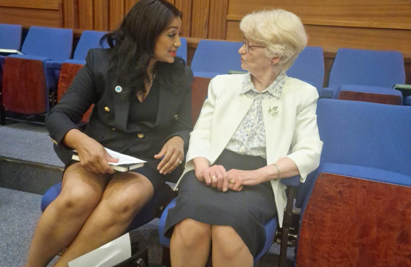
{"label": "dark jacket sleeve of black-haired woman, nearest the cream jacket", "polygon": [[171,135],[166,138],[164,143],[174,136],[180,136],[184,140],[185,150],[188,148],[190,133],[193,131],[193,119],[191,116],[191,84],[193,83],[193,71],[190,67],[186,67],[185,80],[187,86],[182,94],[180,107],[177,111],[179,117],[175,120],[171,128]]}

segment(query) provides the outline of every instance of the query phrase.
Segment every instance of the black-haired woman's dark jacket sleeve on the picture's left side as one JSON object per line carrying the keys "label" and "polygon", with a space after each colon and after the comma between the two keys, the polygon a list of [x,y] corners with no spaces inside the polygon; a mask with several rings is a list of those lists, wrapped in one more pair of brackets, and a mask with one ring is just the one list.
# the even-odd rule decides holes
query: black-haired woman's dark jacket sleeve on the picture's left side
{"label": "black-haired woman's dark jacket sleeve on the picture's left side", "polygon": [[70,88],[60,102],[46,117],[46,127],[50,137],[59,145],[68,131],[80,128],[76,126],[83,114],[97,101],[98,93],[94,84],[93,49],[86,57],[86,65],[80,69]]}

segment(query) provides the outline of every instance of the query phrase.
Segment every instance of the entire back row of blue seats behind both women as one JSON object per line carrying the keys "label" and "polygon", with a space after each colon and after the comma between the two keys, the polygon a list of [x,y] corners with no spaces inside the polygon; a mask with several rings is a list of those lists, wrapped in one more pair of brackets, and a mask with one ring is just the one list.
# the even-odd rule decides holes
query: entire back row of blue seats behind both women
{"label": "entire back row of blue seats behind both women", "polygon": [[[21,31],[21,26],[0,24],[0,37],[10,37],[0,38],[3,40],[0,41],[0,48],[19,49]],[[23,114],[47,112],[61,97],[57,93],[57,83],[61,78],[62,64],[77,64],[63,67],[76,73],[85,64],[88,50],[100,46],[104,34],[83,32],[70,59],[72,30],[31,27],[21,49],[25,54],[7,57],[3,74],[3,104],[6,110]],[[181,41],[182,46],[177,53],[187,60],[187,40],[182,38]],[[213,78],[228,74],[230,70],[242,71],[238,53],[242,45],[238,42],[200,41],[191,64],[194,75]],[[6,58],[0,57],[0,63],[1,60],[5,63]],[[402,93],[391,89],[395,84],[405,83],[404,58],[400,52],[341,48],[331,69],[329,87],[323,88],[323,50],[308,46],[287,75],[316,87],[321,98],[403,104]],[[404,98],[404,103],[411,105],[411,97]]]}

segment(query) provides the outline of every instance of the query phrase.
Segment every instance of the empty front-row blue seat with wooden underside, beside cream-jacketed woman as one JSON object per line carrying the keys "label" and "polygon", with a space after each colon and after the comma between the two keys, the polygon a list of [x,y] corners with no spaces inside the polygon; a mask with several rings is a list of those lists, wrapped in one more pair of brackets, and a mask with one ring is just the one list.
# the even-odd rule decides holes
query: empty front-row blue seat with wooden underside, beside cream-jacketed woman
{"label": "empty front-row blue seat with wooden underside, beside cream-jacketed woman", "polygon": [[[296,207],[302,210],[295,264],[306,266],[307,261],[319,260],[315,258],[318,254],[322,257],[320,261],[329,262],[328,265],[316,262],[316,266],[343,266],[335,265],[335,259],[345,263],[344,266],[354,266],[350,265],[347,252],[341,250],[349,246],[350,255],[356,255],[355,261],[362,263],[361,266],[371,266],[367,264],[371,260],[402,265],[392,262],[396,259],[390,257],[411,252],[411,242],[401,243],[397,239],[398,234],[410,234],[409,217],[399,214],[401,209],[396,210],[399,205],[409,206],[411,193],[410,117],[409,106],[318,100],[317,124],[324,144],[320,166],[298,188]],[[379,193],[367,194],[373,188],[380,188]],[[388,193],[385,194],[384,188]],[[408,194],[404,198],[396,192]],[[334,205],[325,207],[328,203]],[[347,217],[362,220],[350,224],[345,221]],[[318,231],[307,232],[313,227]],[[355,236],[355,240],[347,240],[348,236]],[[382,243],[387,245],[381,245],[378,240],[384,240]],[[402,249],[392,253],[390,248],[397,243]],[[366,244],[369,247],[363,247]],[[328,256],[324,257],[323,253]],[[397,258],[400,263],[409,262],[401,257]]]}

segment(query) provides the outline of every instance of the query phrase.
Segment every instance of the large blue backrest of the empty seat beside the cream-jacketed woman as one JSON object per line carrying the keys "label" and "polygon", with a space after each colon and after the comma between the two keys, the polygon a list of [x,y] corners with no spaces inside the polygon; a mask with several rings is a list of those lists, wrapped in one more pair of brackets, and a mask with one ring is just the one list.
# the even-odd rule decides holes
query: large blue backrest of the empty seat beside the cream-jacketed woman
{"label": "large blue backrest of the empty seat beside the cream-jacketed woman", "polygon": [[[411,107],[360,101],[319,99],[317,124],[324,142],[320,164],[375,168],[411,176]],[[299,187],[301,207],[310,174]]]}

